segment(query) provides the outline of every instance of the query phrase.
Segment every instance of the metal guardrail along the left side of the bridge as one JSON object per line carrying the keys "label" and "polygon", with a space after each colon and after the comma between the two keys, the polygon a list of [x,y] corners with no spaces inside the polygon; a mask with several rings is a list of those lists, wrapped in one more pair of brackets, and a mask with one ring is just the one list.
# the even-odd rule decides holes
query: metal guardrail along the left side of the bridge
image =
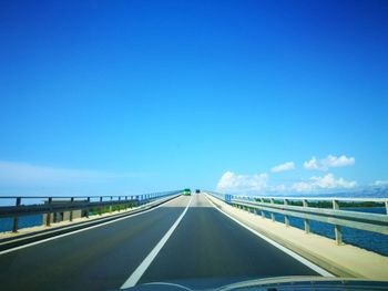
{"label": "metal guardrail along the left side of the bridge", "polygon": [[[0,219],[13,218],[12,232],[18,232],[19,217],[31,215],[47,215],[45,226],[51,225],[51,215],[55,212],[70,212],[69,220],[73,220],[74,210],[85,210],[85,217],[89,217],[91,209],[99,209],[99,215],[102,215],[103,209],[109,207],[109,212],[112,212],[114,206],[131,208],[133,205],[144,205],[146,202],[161,199],[167,196],[181,194],[182,190],[151,193],[142,195],[126,196],[2,196],[0,199],[13,199],[13,206],[0,206]],[[44,199],[44,204],[23,205],[25,200]],[[92,201],[94,199],[94,201]]]}

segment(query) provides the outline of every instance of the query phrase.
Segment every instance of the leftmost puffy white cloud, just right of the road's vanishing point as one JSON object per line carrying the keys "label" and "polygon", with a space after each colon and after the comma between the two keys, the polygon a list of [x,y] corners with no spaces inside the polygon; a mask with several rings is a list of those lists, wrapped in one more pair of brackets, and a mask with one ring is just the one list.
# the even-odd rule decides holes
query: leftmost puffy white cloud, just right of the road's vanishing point
{"label": "leftmost puffy white cloud, just right of the road's vanishing point", "polygon": [[223,193],[259,193],[265,190],[267,179],[267,174],[237,175],[228,170],[218,180],[217,190]]}

